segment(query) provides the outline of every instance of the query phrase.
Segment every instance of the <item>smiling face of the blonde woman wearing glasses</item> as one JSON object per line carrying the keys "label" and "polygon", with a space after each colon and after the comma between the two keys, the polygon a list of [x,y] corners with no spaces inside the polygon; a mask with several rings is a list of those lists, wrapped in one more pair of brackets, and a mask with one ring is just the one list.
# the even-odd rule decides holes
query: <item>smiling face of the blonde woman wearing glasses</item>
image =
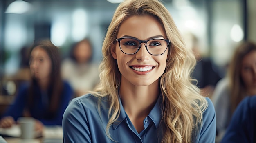
{"label": "smiling face of the blonde woman wearing glasses", "polygon": [[[117,33],[117,38],[122,37],[134,37],[139,40],[167,39],[161,24],[149,15],[134,15],[126,19]],[[122,83],[128,82],[135,86],[147,86],[158,82],[166,68],[167,55],[168,49],[162,55],[150,55],[144,43],[141,43],[141,48],[133,55],[123,53],[118,42],[112,47],[112,56],[117,59]],[[135,68],[146,71],[137,71]]]}

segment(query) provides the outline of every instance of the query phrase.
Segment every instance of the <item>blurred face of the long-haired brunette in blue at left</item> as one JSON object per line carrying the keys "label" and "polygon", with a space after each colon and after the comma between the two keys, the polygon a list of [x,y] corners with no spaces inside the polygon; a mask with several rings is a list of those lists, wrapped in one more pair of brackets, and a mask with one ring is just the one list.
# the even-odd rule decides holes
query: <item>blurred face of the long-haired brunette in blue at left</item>
{"label": "blurred face of the long-haired brunette in blue at left", "polygon": [[50,78],[52,62],[43,48],[38,46],[32,50],[29,63],[32,77],[39,80]]}

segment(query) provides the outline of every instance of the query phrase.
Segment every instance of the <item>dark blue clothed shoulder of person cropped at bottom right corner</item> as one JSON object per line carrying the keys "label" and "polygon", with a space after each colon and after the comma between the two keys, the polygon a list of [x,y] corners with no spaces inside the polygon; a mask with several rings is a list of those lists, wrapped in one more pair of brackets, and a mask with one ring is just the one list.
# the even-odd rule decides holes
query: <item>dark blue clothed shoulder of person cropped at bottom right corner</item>
{"label": "dark blue clothed shoulder of person cropped at bottom right corner", "polygon": [[256,95],[245,97],[234,112],[221,143],[256,143]]}

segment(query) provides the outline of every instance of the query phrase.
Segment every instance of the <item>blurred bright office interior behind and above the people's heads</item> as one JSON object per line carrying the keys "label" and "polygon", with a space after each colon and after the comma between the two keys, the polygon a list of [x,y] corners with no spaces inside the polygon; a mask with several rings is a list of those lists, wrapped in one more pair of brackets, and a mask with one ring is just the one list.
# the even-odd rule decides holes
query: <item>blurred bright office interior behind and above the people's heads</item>
{"label": "blurred bright office interior behind and above the people's heads", "polygon": [[[244,40],[256,41],[255,0],[162,2],[187,46],[192,42],[189,34],[195,35],[200,53],[211,59],[222,77],[234,48]],[[94,48],[93,60],[100,62],[102,42],[117,6],[110,0],[0,0],[1,80],[20,70],[23,47],[44,38],[59,46],[63,57],[74,42],[89,38]]]}

